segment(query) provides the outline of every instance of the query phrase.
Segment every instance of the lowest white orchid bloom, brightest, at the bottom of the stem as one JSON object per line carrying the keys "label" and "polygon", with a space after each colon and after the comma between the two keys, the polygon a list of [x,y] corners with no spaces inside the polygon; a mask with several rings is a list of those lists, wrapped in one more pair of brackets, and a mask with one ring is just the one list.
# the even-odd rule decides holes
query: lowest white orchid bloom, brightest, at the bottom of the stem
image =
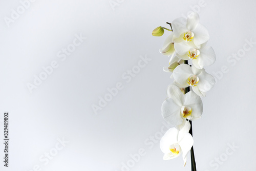
{"label": "lowest white orchid bloom, brightest, at the bottom of the stem", "polygon": [[188,133],[189,129],[190,123],[186,121],[180,131],[172,127],[164,134],[160,140],[164,160],[174,159],[182,154],[184,166],[186,165],[187,154],[194,144],[193,137]]}

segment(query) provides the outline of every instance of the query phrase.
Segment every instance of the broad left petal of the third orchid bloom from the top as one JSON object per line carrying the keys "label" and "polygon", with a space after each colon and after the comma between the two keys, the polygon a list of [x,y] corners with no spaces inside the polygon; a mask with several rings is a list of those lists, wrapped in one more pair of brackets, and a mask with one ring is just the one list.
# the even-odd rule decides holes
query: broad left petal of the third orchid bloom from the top
{"label": "broad left petal of the third orchid bloom from the top", "polygon": [[189,86],[187,83],[188,77],[193,75],[191,71],[191,67],[187,64],[181,64],[173,72],[173,76],[175,81],[181,86],[182,88],[186,88]]}

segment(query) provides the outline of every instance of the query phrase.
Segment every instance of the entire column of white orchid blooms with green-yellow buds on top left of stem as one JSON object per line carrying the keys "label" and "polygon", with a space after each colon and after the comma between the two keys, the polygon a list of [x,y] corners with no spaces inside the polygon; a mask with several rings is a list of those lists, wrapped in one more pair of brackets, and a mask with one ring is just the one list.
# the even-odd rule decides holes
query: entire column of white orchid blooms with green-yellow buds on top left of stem
{"label": "entire column of white orchid blooms with green-yellow buds on top left of stem", "polygon": [[204,67],[215,62],[215,52],[207,45],[209,33],[199,24],[197,13],[190,13],[187,18],[177,18],[169,25],[171,30],[158,27],[152,32],[153,36],[162,36],[164,29],[171,31],[160,53],[171,56],[169,66],[163,70],[172,72],[170,78],[174,82],[167,88],[168,98],[162,104],[162,116],[173,127],[162,137],[160,148],[164,160],[182,155],[185,166],[187,154],[194,144],[189,133],[190,123],[201,117],[201,97],[206,96],[206,92],[215,84],[214,77],[204,70]]}

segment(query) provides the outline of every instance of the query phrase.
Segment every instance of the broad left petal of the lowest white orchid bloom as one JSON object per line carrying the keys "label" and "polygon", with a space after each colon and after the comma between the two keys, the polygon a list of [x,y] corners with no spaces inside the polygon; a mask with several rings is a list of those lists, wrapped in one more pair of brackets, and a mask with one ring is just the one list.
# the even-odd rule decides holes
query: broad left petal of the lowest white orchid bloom
{"label": "broad left petal of the lowest white orchid bloom", "polygon": [[164,154],[170,153],[169,146],[177,143],[178,130],[175,127],[170,128],[160,140],[160,148]]}

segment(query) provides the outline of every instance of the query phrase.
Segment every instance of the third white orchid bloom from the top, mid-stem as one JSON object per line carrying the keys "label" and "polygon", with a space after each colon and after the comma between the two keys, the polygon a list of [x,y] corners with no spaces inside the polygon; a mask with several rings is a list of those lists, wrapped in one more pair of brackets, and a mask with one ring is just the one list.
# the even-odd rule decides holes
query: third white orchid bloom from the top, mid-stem
{"label": "third white orchid bloom from the top, mid-stem", "polygon": [[186,88],[191,86],[193,91],[199,96],[206,96],[215,85],[215,79],[212,75],[205,72],[204,69],[197,69],[195,66],[181,64],[175,68],[173,78],[179,87]]}

